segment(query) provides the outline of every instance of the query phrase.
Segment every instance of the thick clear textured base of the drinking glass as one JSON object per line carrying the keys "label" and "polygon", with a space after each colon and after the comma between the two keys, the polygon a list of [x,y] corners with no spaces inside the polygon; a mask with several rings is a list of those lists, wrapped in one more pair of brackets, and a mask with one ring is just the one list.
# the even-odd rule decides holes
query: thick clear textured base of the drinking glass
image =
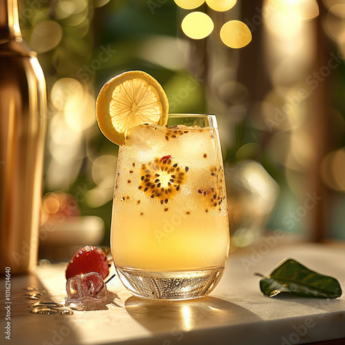
{"label": "thick clear textured base of the drinking glass", "polygon": [[208,295],[219,282],[224,267],[167,272],[121,266],[116,269],[122,284],[137,297],[179,300]]}

